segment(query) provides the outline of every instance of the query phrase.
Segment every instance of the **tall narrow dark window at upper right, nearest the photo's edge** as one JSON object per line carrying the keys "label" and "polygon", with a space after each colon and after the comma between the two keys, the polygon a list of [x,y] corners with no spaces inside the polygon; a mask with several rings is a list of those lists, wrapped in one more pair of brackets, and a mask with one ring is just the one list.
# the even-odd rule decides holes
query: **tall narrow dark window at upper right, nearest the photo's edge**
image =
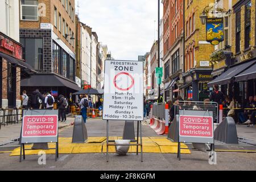
{"label": "tall narrow dark window at upper right, nearest the photo's edge", "polygon": [[245,49],[250,47],[251,2],[245,5]]}

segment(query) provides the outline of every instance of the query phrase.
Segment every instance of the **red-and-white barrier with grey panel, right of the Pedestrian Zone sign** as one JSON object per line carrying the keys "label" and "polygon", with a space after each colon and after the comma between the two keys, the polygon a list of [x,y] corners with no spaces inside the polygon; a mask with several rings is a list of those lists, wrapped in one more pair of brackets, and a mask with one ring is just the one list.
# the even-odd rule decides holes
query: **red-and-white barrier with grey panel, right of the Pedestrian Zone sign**
{"label": "red-and-white barrier with grey panel, right of the Pedestrian Zone sign", "polygon": [[158,135],[168,134],[169,109],[168,104],[151,105],[150,127]]}

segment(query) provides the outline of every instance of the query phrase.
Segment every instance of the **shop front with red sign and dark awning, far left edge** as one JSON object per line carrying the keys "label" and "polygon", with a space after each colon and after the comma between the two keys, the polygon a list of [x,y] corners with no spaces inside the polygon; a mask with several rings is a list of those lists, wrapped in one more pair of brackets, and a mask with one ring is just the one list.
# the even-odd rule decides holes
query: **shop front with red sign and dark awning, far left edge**
{"label": "shop front with red sign and dark awning, far left edge", "polygon": [[0,107],[19,107],[20,80],[35,73],[22,55],[22,44],[0,32]]}

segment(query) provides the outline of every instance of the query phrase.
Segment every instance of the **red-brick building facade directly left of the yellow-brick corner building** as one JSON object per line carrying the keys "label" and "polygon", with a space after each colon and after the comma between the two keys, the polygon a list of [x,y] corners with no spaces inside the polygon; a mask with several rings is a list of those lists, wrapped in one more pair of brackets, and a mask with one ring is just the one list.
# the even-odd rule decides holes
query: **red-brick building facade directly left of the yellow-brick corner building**
{"label": "red-brick building facade directly left of the yellow-brick corner building", "polygon": [[183,0],[164,0],[164,98],[172,100],[179,94],[178,83],[183,72]]}

